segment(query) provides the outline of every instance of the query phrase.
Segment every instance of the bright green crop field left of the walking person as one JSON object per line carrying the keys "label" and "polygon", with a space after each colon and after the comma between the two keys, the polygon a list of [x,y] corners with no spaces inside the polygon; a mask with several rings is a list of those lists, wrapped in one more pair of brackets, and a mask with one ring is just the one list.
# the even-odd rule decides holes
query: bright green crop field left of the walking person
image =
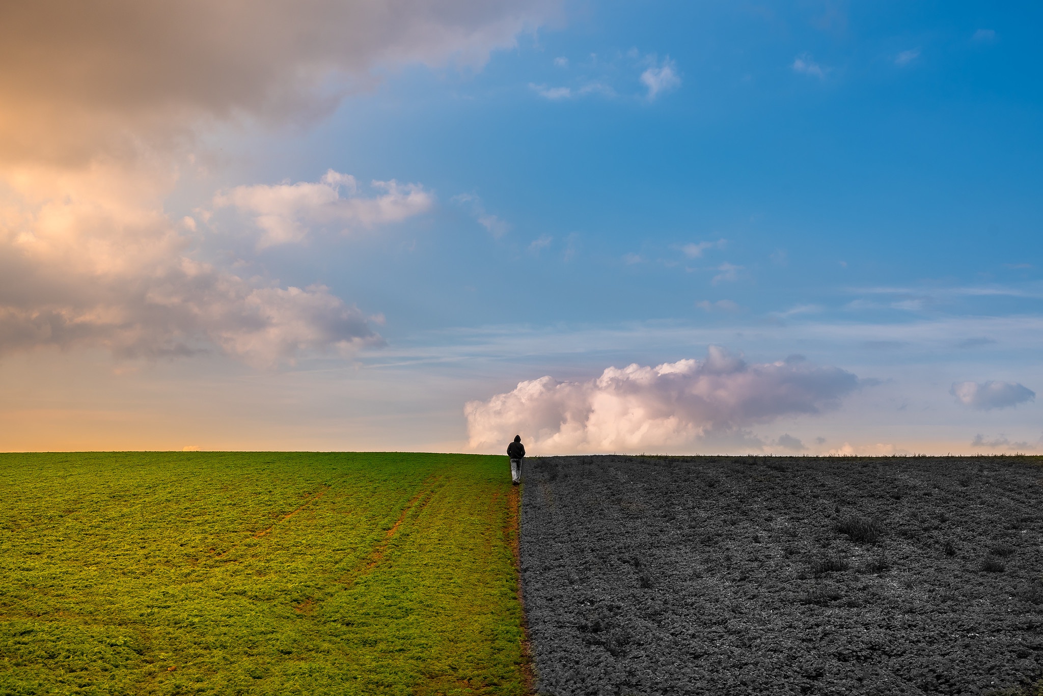
{"label": "bright green crop field left of the walking person", "polygon": [[0,455],[0,694],[524,694],[506,457]]}

